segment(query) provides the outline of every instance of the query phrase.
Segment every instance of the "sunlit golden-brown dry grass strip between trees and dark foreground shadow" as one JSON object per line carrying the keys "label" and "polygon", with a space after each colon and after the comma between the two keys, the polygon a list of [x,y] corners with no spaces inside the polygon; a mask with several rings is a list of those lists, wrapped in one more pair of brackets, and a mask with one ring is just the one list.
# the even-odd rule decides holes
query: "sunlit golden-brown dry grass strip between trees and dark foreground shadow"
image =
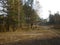
{"label": "sunlit golden-brown dry grass strip between trees and dark foreground shadow", "polygon": [[26,39],[51,39],[57,36],[58,35],[51,30],[18,30],[15,32],[0,33],[0,44]]}

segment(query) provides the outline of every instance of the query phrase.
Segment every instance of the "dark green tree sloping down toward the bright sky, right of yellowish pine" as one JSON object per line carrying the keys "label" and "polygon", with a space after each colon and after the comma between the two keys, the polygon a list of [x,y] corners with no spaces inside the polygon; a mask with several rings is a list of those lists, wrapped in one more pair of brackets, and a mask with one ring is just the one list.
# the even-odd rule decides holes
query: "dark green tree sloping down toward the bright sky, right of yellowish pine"
{"label": "dark green tree sloping down toward the bright sky, right of yellowish pine", "polygon": [[33,5],[33,2],[29,2],[29,0],[25,3],[25,5],[23,5],[26,23],[28,25],[37,22],[37,19],[39,18],[36,11],[32,8],[32,5]]}

